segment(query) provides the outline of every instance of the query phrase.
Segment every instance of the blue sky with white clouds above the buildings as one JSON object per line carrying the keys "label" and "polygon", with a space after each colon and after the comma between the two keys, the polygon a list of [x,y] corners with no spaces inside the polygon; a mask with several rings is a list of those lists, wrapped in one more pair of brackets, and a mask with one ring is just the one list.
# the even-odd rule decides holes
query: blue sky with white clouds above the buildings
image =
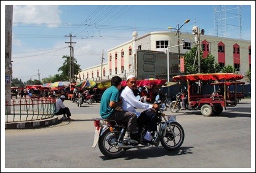
{"label": "blue sky with white clouds above the buildings", "polygon": [[[102,5],[94,5],[96,1],[86,1],[87,4],[82,4],[85,3],[83,1],[63,2],[66,5],[56,5],[59,1],[43,1],[41,3],[44,4],[34,6],[31,2],[22,1],[21,6],[17,1],[1,1],[1,40],[4,39],[2,5],[14,5],[12,77],[26,82],[30,78],[42,80],[59,74],[58,68],[64,63],[62,57],[70,56],[70,41],[73,42],[74,58],[81,69],[86,69],[101,64],[102,53],[105,59],[103,63],[106,63],[107,50],[131,40],[134,31],[137,31],[138,37],[152,31],[170,31],[167,29],[169,26],[177,28],[178,23],[181,26],[190,19],[180,29],[183,34],[191,34],[191,29],[196,25],[205,30],[205,35],[215,36],[215,14],[220,14],[220,5],[225,5],[211,1],[207,1],[207,4],[212,5],[202,5],[201,1],[193,1],[198,5],[190,1],[157,1],[158,5],[147,6],[143,5],[144,1],[136,1],[136,5],[133,1],[122,1],[126,2],[124,5],[115,1],[97,1]],[[235,2],[238,4],[225,6],[228,12],[234,13],[226,15],[229,18],[226,20],[226,37],[240,37],[238,6],[234,5],[241,5],[242,39],[251,40],[252,26],[255,33],[255,22],[252,23],[255,21],[255,4],[249,1]],[[3,46],[1,42],[1,50]],[[2,57],[3,53],[1,51]]]}

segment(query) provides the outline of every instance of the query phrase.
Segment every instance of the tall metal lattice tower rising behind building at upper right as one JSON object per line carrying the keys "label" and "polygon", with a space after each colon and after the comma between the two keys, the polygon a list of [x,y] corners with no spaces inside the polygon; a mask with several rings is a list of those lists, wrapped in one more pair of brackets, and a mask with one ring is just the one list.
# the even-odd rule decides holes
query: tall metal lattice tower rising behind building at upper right
{"label": "tall metal lattice tower rising behind building at upper right", "polygon": [[[215,36],[219,37],[236,37],[242,39],[241,24],[241,7],[242,6],[215,6]],[[233,31],[239,30],[239,36],[232,34]]]}

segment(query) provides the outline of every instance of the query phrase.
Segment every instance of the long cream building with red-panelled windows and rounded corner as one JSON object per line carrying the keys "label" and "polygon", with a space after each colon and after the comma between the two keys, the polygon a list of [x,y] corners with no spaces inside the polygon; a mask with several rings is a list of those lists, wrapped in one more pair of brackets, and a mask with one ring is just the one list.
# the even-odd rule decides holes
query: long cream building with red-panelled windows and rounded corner
{"label": "long cream building with red-panelled windows and rounded corner", "polygon": [[[167,47],[178,45],[177,32],[155,31],[138,37],[136,31],[132,33],[132,40],[108,50],[108,62],[97,66],[83,69],[79,72],[81,80],[105,80],[114,75],[124,78],[135,74],[138,79],[148,77],[161,77],[167,79]],[[176,35],[175,35],[176,34]],[[246,75],[251,67],[250,53],[251,41],[241,39],[230,39],[226,37],[206,36],[199,34],[200,48],[203,57],[208,54],[215,57],[220,66],[231,65],[237,69],[238,74]],[[180,47],[171,47],[169,59],[170,79],[179,75],[180,64],[178,60],[178,49],[180,56],[195,44],[196,37],[191,33],[182,33],[179,36]],[[139,55],[138,52],[143,52]]]}

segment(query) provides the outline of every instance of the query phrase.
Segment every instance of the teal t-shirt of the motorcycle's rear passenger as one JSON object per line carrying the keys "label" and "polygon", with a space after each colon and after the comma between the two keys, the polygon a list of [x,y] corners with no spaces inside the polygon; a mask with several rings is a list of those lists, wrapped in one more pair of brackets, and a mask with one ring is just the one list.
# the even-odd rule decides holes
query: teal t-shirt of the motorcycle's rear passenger
{"label": "teal t-shirt of the motorcycle's rear passenger", "polygon": [[118,102],[119,94],[118,88],[114,86],[111,86],[104,91],[100,101],[100,117],[108,118],[108,116],[110,116],[110,114],[114,111],[114,109],[110,107],[110,101]]}

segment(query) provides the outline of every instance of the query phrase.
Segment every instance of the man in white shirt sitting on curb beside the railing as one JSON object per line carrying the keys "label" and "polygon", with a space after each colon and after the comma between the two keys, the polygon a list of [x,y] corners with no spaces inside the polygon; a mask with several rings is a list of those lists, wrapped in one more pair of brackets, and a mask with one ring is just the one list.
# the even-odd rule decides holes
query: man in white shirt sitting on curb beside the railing
{"label": "man in white shirt sitting on curb beside the railing", "polygon": [[62,120],[73,120],[70,118],[71,113],[70,113],[70,109],[68,109],[68,107],[66,107],[63,102],[65,101],[66,97],[64,95],[61,95],[60,98],[58,98],[56,100],[56,113],[55,115],[62,115]]}

